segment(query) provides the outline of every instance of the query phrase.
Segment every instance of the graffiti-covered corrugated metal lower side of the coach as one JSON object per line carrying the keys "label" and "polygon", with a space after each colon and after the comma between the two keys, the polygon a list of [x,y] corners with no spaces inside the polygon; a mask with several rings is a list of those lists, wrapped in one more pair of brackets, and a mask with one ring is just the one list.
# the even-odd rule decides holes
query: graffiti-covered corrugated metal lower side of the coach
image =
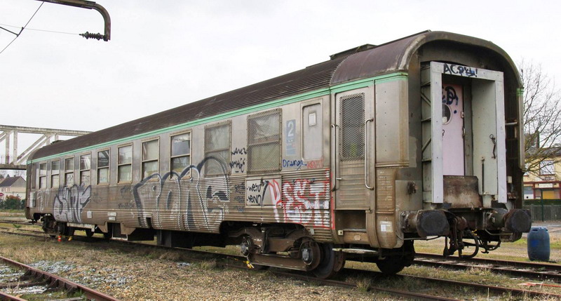
{"label": "graffiti-covered corrugated metal lower side of the coach", "polygon": [[34,212],[53,213],[61,222],[120,222],[127,227],[212,233],[219,232],[224,220],[288,222],[313,229],[318,241],[331,241],[329,177],[328,170],[284,174],[281,187],[269,188],[282,194],[276,206],[245,206],[245,177],[195,175],[180,181],[154,177],[137,185],[97,185],[92,190],[48,189],[37,193]]}

